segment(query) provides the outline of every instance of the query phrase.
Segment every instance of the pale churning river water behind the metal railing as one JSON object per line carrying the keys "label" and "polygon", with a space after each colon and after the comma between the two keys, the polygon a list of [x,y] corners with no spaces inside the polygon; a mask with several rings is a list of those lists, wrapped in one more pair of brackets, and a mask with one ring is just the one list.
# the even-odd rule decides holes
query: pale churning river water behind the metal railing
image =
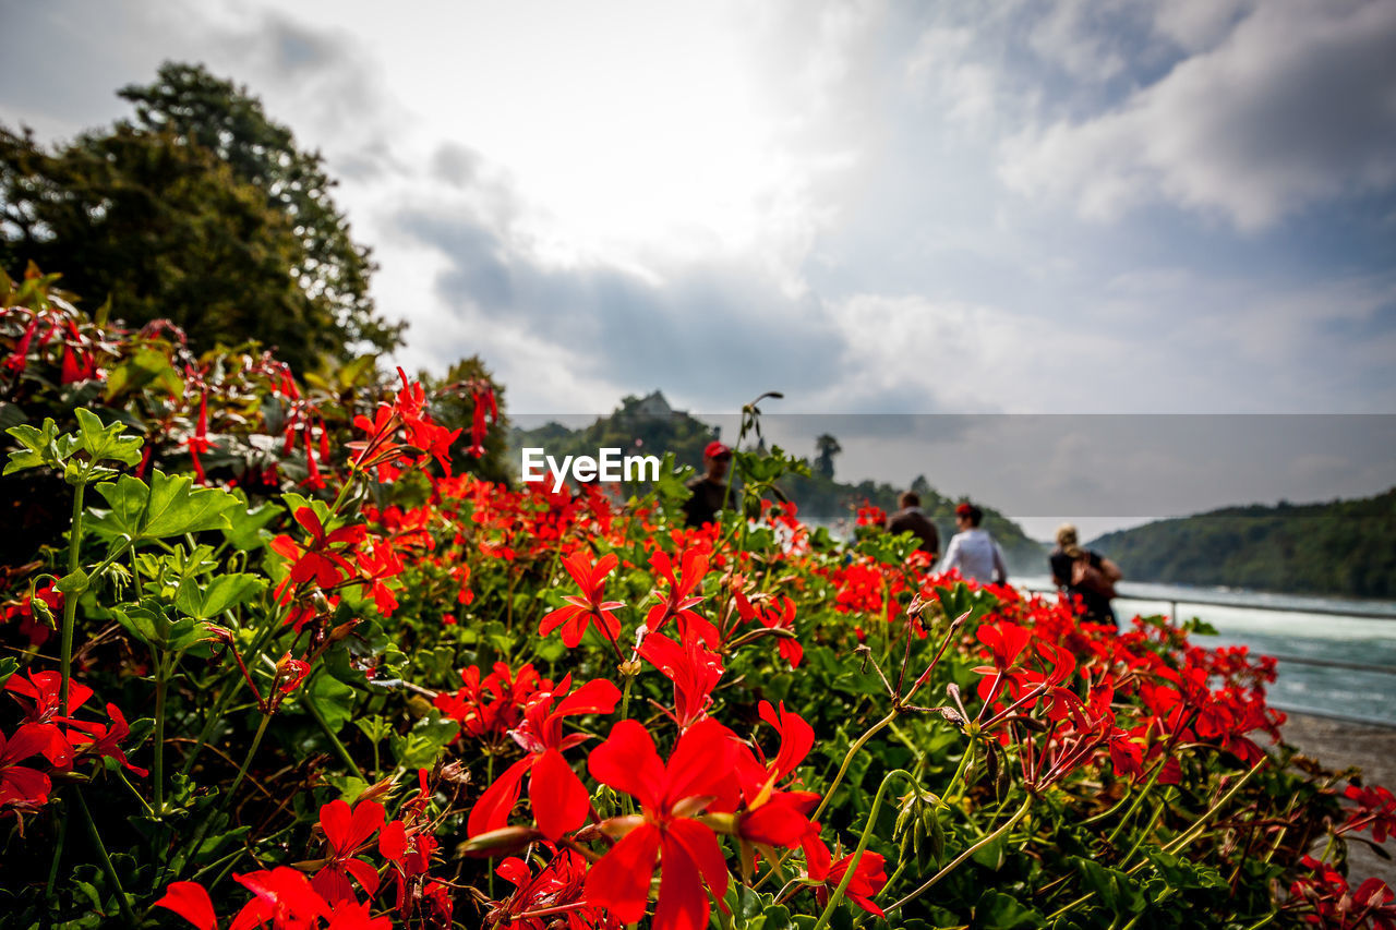
{"label": "pale churning river water behind the metal railing", "polygon": [[[1011,581],[1023,588],[1051,588],[1047,577]],[[1177,600],[1184,620],[1198,617],[1217,631],[1215,637],[1195,637],[1198,645],[1248,645],[1265,655],[1388,669],[1335,669],[1282,658],[1270,702],[1286,711],[1396,726],[1396,602],[1142,582],[1121,584],[1120,593],[1114,606],[1121,623],[1136,614],[1171,614],[1171,602]],[[1188,603],[1189,598],[1217,603]]]}

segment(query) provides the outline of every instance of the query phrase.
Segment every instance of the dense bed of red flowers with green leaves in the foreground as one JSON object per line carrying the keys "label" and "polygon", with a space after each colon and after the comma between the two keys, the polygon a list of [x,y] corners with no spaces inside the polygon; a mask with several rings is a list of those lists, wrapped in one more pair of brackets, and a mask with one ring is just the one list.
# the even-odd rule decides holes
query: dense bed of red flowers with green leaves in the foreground
{"label": "dense bed of red flowers with green leaves in the foreground", "polygon": [[683,529],[670,476],[454,473],[406,376],[193,357],[50,285],[0,316],[7,480],[66,514],[0,591],[6,926],[1396,920],[1343,874],[1396,800],[1277,744],[1273,660],[789,505]]}

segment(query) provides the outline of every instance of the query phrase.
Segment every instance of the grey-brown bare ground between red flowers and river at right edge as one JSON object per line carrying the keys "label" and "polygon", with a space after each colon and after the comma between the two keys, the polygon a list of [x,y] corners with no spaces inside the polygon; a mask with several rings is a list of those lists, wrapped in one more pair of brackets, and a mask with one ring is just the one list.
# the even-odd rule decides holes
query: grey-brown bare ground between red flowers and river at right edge
{"label": "grey-brown bare ground between red flowers and river at right edge", "polygon": [[[1286,743],[1316,758],[1325,767],[1362,769],[1362,781],[1396,789],[1396,728],[1350,723],[1309,714],[1290,714],[1284,723]],[[1369,834],[1362,834],[1369,838]],[[1388,842],[1388,846],[1392,846]],[[1367,843],[1349,843],[1349,883],[1360,884],[1376,876],[1396,888],[1396,863],[1382,859]],[[1396,849],[1388,849],[1396,855]]]}

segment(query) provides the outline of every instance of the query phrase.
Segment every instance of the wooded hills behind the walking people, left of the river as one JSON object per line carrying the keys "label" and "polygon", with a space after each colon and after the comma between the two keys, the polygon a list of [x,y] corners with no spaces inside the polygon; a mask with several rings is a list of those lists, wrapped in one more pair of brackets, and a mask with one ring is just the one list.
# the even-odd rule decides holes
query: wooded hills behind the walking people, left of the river
{"label": "wooded hills behind the walking people, left of the river", "polygon": [[[702,468],[702,450],[715,438],[732,443],[736,437],[722,437],[713,426],[698,420],[684,411],[674,411],[659,391],[644,398],[627,397],[610,416],[597,418],[591,426],[571,430],[558,423],[546,423],[533,430],[514,429],[510,434],[514,462],[519,461],[518,450],[525,445],[542,447],[549,455],[588,455],[597,448],[618,447],[627,454],[655,454],[663,457],[673,452],[680,465]],[[797,452],[797,450],[790,450]],[[832,458],[829,459],[832,469]],[[941,547],[955,532],[955,505],[958,500],[941,496],[927,480],[917,476],[910,487],[921,496],[921,505],[935,522],[941,533]],[[896,496],[906,486],[884,482],[860,482],[849,485],[833,478],[815,473],[810,478],[789,476],[782,479],[780,489],[800,507],[800,515],[817,521],[847,519],[850,524],[857,508],[864,501],[886,511],[896,508]],[[1004,549],[1011,573],[1046,571],[1046,550],[1041,543],[1030,539],[1022,528],[983,501],[976,501],[984,510],[984,528],[994,535]]]}

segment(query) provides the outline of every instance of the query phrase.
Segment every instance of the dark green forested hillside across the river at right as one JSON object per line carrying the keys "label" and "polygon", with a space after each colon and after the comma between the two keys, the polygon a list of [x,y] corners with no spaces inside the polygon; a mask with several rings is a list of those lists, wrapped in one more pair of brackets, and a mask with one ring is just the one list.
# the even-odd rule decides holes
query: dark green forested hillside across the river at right
{"label": "dark green forested hillside across the river at right", "polygon": [[1362,500],[1228,507],[1093,540],[1131,581],[1396,598],[1396,489]]}

